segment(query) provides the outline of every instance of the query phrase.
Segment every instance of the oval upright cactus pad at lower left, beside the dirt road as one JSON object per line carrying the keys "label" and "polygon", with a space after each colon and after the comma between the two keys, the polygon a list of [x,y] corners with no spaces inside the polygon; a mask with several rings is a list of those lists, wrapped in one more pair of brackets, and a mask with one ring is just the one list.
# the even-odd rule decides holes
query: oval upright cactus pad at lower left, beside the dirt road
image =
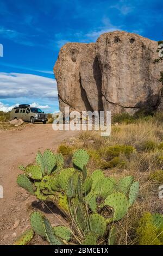
{"label": "oval upright cactus pad at lower left, beside the dirt road", "polygon": [[40,212],[38,211],[34,211],[32,212],[32,214],[30,215],[30,224],[31,227],[33,228],[33,230],[35,231],[35,233],[37,235],[40,235],[42,237],[46,237],[46,233],[45,233],[45,225],[43,222],[43,215],[40,214]]}

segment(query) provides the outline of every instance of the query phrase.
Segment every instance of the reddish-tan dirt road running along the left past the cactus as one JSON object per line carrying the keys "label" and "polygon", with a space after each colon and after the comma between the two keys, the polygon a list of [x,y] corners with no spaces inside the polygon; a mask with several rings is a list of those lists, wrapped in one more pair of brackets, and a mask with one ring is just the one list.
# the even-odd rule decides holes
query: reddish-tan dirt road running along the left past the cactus
{"label": "reddish-tan dirt road running along the left past the cactus", "polygon": [[[20,164],[26,166],[35,161],[38,150],[49,148],[55,151],[65,139],[76,135],[74,131],[53,131],[51,124],[28,124],[22,130],[0,132],[0,185],[3,186],[3,199],[0,199],[0,244],[11,244],[18,235],[29,226],[29,214],[33,209],[41,208],[50,218],[58,223],[57,210],[49,205],[47,208],[29,196],[16,184],[16,177],[21,170]],[[52,214],[52,211],[55,213]],[[36,243],[40,243],[39,240]]]}

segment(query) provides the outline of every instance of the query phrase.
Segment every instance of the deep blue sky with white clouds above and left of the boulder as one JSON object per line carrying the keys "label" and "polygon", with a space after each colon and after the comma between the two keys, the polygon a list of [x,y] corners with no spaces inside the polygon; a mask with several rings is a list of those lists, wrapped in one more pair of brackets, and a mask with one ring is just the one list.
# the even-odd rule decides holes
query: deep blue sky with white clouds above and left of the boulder
{"label": "deep blue sky with white clouds above and left of the boulder", "polygon": [[0,109],[33,103],[58,111],[53,66],[62,45],[115,30],[162,40],[162,13],[162,0],[1,0]]}

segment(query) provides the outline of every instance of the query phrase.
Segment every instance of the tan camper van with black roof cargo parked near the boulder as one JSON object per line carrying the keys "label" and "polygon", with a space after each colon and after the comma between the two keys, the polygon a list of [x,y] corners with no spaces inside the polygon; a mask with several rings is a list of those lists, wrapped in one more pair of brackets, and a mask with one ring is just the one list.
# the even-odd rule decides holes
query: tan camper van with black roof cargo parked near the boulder
{"label": "tan camper van with black roof cargo parked near the boulder", "polygon": [[22,119],[24,122],[30,122],[34,124],[35,122],[42,122],[46,124],[48,118],[40,108],[30,107],[28,104],[22,104],[18,107],[14,107],[10,113],[10,120]]}

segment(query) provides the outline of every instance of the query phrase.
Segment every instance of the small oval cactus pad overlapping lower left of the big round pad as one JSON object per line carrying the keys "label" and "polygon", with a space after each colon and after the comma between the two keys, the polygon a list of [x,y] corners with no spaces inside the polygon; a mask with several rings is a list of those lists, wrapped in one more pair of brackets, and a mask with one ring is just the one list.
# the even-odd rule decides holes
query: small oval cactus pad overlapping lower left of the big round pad
{"label": "small oval cactus pad overlapping lower left of the big round pad", "polygon": [[99,214],[91,214],[89,220],[91,232],[98,237],[103,236],[106,231],[105,218]]}

